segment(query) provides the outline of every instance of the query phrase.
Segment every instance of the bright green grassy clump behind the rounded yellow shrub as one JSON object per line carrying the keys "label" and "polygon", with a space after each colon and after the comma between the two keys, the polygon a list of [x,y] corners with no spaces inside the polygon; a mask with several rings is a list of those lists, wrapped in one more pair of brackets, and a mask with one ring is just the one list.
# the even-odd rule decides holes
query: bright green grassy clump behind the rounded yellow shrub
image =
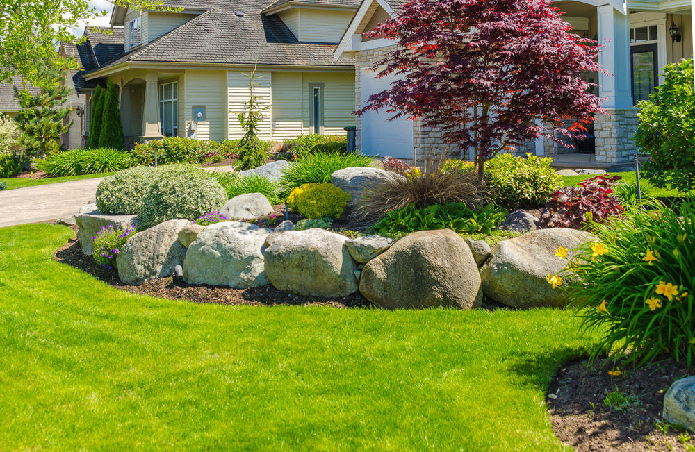
{"label": "bright green grassy clump behind the rounded yellow shrub", "polygon": [[308,153],[282,173],[281,185],[285,190],[301,187],[307,183],[331,181],[331,174],[338,169],[368,167],[372,159],[359,153]]}

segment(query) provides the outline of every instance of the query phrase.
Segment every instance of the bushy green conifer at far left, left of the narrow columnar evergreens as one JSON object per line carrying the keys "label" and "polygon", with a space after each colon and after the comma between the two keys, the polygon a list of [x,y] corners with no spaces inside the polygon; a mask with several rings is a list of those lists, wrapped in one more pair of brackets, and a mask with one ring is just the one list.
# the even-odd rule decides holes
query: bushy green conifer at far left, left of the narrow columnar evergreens
{"label": "bushy green conifer at far left, left of the narrow columnar evergreens", "polygon": [[15,97],[22,110],[15,120],[22,136],[19,145],[28,158],[43,158],[60,151],[60,137],[70,128],[63,120],[70,115],[70,108],[63,108],[70,89],[63,85],[63,70],[49,60],[35,61],[39,92],[32,94],[26,86],[14,87]]}

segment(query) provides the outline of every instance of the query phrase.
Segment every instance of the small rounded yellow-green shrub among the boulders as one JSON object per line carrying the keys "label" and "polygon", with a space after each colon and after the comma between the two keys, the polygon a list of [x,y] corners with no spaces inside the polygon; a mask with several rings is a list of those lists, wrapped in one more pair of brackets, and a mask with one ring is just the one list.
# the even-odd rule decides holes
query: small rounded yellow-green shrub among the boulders
{"label": "small rounded yellow-green shrub among the boulders", "polygon": [[350,194],[329,183],[307,183],[287,198],[287,206],[307,218],[340,217]]}

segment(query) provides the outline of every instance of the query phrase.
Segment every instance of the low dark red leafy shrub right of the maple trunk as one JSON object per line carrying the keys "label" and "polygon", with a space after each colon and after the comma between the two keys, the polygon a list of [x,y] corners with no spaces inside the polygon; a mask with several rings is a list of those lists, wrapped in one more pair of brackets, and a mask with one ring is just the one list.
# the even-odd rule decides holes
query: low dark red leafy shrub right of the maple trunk
{"label": "low dark red leafy shrub right of the maple trunk", "polygon": [[604,221],[621,215],[624,208],[613,195],[620,176],[594,176],[581,182],[580,187],[564,187],[553,194],[541,219],[548,226],[582,228],[587,221]]}

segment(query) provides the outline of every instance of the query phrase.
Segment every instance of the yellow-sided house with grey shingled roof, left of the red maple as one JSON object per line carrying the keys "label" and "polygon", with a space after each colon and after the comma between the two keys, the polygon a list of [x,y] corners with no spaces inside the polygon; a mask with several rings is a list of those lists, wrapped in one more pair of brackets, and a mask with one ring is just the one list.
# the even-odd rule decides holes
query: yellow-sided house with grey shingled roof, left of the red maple
{"label": "yellow-sided house with grey shingled roof, left of the red maple", "polygon": [[237,114],[257,64],[256,94],[269,107],[261,139],[345,133],[355,125],[354,61],[334,59],[334,50],[359,0],[269,3],[164,1],[181,12],[115,6],[111,25],[124,27],[115,28],[123,49],[96,67],[83,62],[76,92],[111,78],[129,144],[162,136],[234,140],[243,136]]}

